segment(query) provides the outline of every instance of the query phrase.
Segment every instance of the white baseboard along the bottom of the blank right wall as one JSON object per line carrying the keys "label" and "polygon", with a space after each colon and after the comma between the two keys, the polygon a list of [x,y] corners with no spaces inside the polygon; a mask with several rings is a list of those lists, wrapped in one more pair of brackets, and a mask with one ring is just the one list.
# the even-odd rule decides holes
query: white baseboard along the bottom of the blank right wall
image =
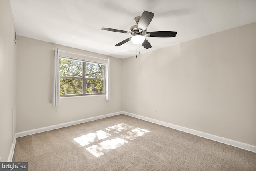
{"label": "white baseboard along the bottom of the blank right wall", "polygon": [[133,114],[133,113],[128,113],[128,112],[125,112],[125,111],[123,111],[122,113],[124,113],[125,115],[128,115],[128,116],[131,116],[131,117],[136,117],[138,119],[142,119],[144,121],[156,123],[158,125],[162,125],[162,126],[173,128],[173,129],[177,129],[179,131],[183,131],[183,132],[186,132],[186,133],[197,135],[199,137],[211,139],[213,141],[217,141],[217,142],[220,142],[220,143],[224,143],[224,144],[227,144],[227,145],[231,145],[231,146],[234,146],[234,147],[238,147],[238,148],[245,149],[245,150],[252,151],[252,152],[256,153],[256,146],[254,146],[254,145],[242,143],[242,142],[239,142],[239,141],[234,141],[232,139],[219,137],[219,136],[212,135],[212,134],[209,134],[209,133],[196,131],[194,129],[181,127],[181,126],[174,125],[174,124],[167,123],[167,122],[163,122],[163,121],[158,121],[156,119],[151,119],[151,118],[148,118],[148,117],[136,115],[136,114]]}

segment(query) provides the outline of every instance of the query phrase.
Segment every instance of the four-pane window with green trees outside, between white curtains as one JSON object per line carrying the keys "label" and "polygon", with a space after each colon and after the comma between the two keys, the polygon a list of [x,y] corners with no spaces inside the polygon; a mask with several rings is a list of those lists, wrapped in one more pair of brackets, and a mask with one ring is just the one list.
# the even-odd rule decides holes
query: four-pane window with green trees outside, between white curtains
{"label": "four-pane window with green trees outside, between white curtains", "polygon": [[60,57],[60,96],[105,94],[105,65]]}

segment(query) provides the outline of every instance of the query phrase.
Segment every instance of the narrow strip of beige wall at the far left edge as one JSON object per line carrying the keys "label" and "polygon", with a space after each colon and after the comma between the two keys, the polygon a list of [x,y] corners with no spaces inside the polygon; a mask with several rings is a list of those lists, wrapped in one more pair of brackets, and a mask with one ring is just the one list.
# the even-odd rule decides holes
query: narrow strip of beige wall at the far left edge
{"label": "narrow strip of beige wall at the far left edge", "polygon": [[[7,161],[13,141],[16,94],[15,26],[9,0],[0,1],[0,157]],[[14,112],[15,113],[15,112]],[[14,115],[15,117],[15,115]],[[14,126],[15,128],[15,126]]]}

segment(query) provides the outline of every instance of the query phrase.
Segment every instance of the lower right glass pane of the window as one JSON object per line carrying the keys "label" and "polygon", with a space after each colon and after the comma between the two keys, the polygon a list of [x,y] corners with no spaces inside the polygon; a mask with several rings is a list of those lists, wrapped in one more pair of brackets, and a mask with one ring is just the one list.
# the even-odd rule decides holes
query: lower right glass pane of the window
{"label": "lower right glass pane of the window", "polygon": [[102,80],[86,80],[86,94],[104,93]]}

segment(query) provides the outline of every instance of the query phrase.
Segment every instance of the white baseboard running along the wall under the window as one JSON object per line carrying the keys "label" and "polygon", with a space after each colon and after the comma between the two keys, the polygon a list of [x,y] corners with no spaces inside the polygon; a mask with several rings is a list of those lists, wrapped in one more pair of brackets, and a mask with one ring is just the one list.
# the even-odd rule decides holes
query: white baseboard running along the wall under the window
{"label": "white baseboard running along the wall under the window", "polygon": [[106,117],[120,115],[120,114],[122,114],[122,112],[110,113],[110,114],[106,114],[106,115],[90,117],[90,118],[81,119],[81,120],[77,120],[77,121],[61,123],[61,124],[58,124],[58,125],[52,125],[52,126],[48,126],[48,127],[42,127],[42,128],[32,129],[32,130],[28,130],[28,131],[22,131],[22,132],[16,133],[16,137],[17,138],[24,137],[24,136],[32,135],[32,134],[35,134],[35,133],[50,131],[50,130],[53,130],[53,129],[59,129],[59,128],[63,128],[63,127],[68,127],[68,126],[80,124],[80,123],[95,121],[95,120],[98,120],[98,119],[103,119],[103,118],[106,118]]}

